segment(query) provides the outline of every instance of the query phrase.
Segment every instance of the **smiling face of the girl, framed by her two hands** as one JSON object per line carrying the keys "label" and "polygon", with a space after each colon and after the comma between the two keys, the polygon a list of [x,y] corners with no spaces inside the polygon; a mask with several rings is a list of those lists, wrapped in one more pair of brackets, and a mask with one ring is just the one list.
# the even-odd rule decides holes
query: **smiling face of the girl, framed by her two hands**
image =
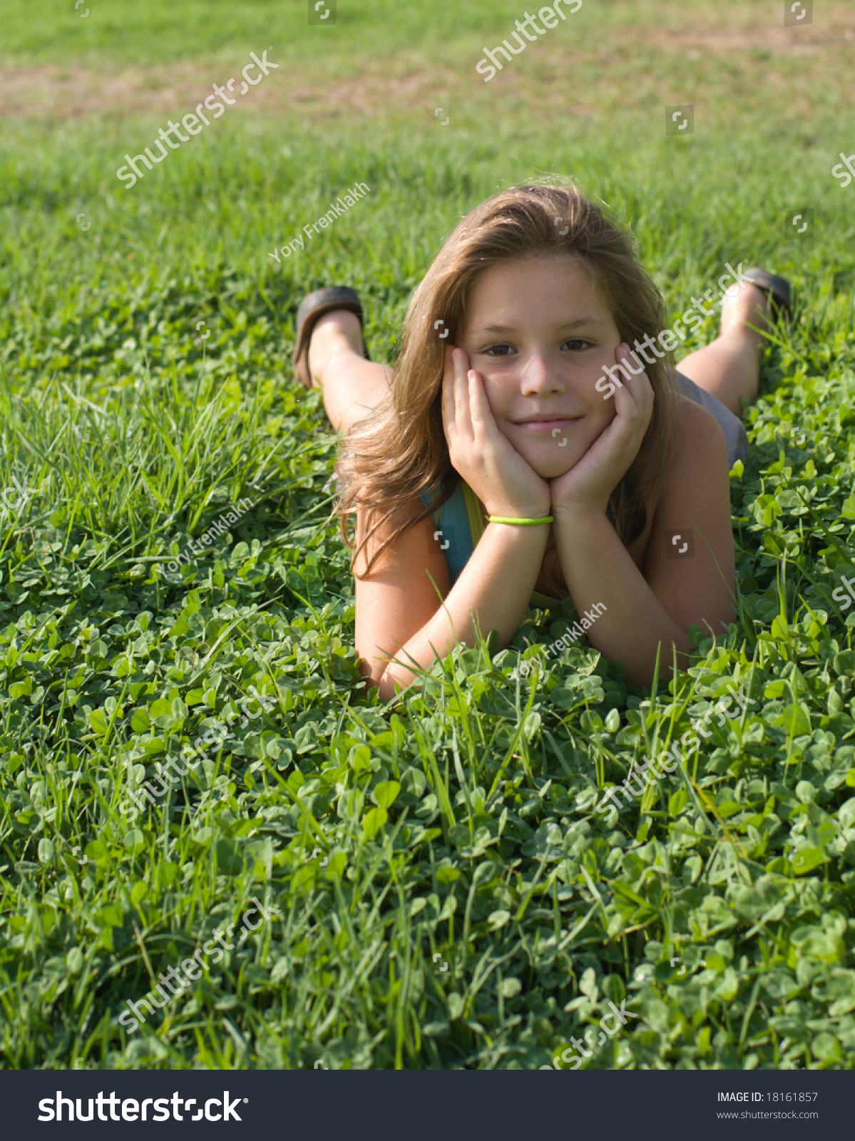
{"label": "smiling face of the girl, framed by her two hands", "polygon": [[458,337],[499,430],[542,479],[568,471],[614,419],[614,398],[595,385],[620,343],[590,276],[567,254],[484,270]]}

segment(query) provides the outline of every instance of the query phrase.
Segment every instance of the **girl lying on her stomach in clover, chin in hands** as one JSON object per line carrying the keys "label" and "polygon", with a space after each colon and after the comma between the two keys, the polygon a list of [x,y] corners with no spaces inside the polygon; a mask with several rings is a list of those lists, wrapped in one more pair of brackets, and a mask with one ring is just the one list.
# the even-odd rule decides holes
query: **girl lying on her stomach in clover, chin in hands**
{"label": "girl lying on her stomach in clover, chin in hands", "polygon": [[535,185],[455,227],[394,370],[366,359],[353,290],[306,298],[296,373],[346,434],[356,649],[384,699],[473,646],[475,623],[507,646],[530,600],[570,596],[632,686],[658,655],[661,677],[688,665],[693,623],[726,631],[740,402],[757,395],[766,291],[789,308],[787,282],[742,278],[680,373],[659,350],[643,365],[630,346],[664,330],[664,304],[630,238],[575,187]]}

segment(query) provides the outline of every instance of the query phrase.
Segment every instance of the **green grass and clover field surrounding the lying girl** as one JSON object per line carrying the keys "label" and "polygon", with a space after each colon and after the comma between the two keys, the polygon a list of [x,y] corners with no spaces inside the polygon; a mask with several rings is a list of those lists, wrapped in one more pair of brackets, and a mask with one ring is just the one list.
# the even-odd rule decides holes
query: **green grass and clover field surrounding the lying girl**
{"label": "green grass and clover field surrounding the lying girl", "polygon": [[[485,84],[509,0],[339,0],[324,27],[297,2],[87,2],[0,3],[2,1065],[570,1068],[587,1033],[584,1068],[852,1068],[850,6],[783,29],[777,2],[586,0]],[[126,191],[122,155],[266,48],[280,68]],[[793,282],[732,474],[740,622],[642,691],[589,647],[547,658],[566,600],[387,707],[297,306],[354,285],[394,361],[459,217],[550,173],[632,227],[675,314],[725,261]],[[744,710],[712,717],[728,686]],[[251,693],[251,723],[159,779]],[[604,823],[598,788],[707,714]],[[145,782],[166,791],[131,820]]]}

